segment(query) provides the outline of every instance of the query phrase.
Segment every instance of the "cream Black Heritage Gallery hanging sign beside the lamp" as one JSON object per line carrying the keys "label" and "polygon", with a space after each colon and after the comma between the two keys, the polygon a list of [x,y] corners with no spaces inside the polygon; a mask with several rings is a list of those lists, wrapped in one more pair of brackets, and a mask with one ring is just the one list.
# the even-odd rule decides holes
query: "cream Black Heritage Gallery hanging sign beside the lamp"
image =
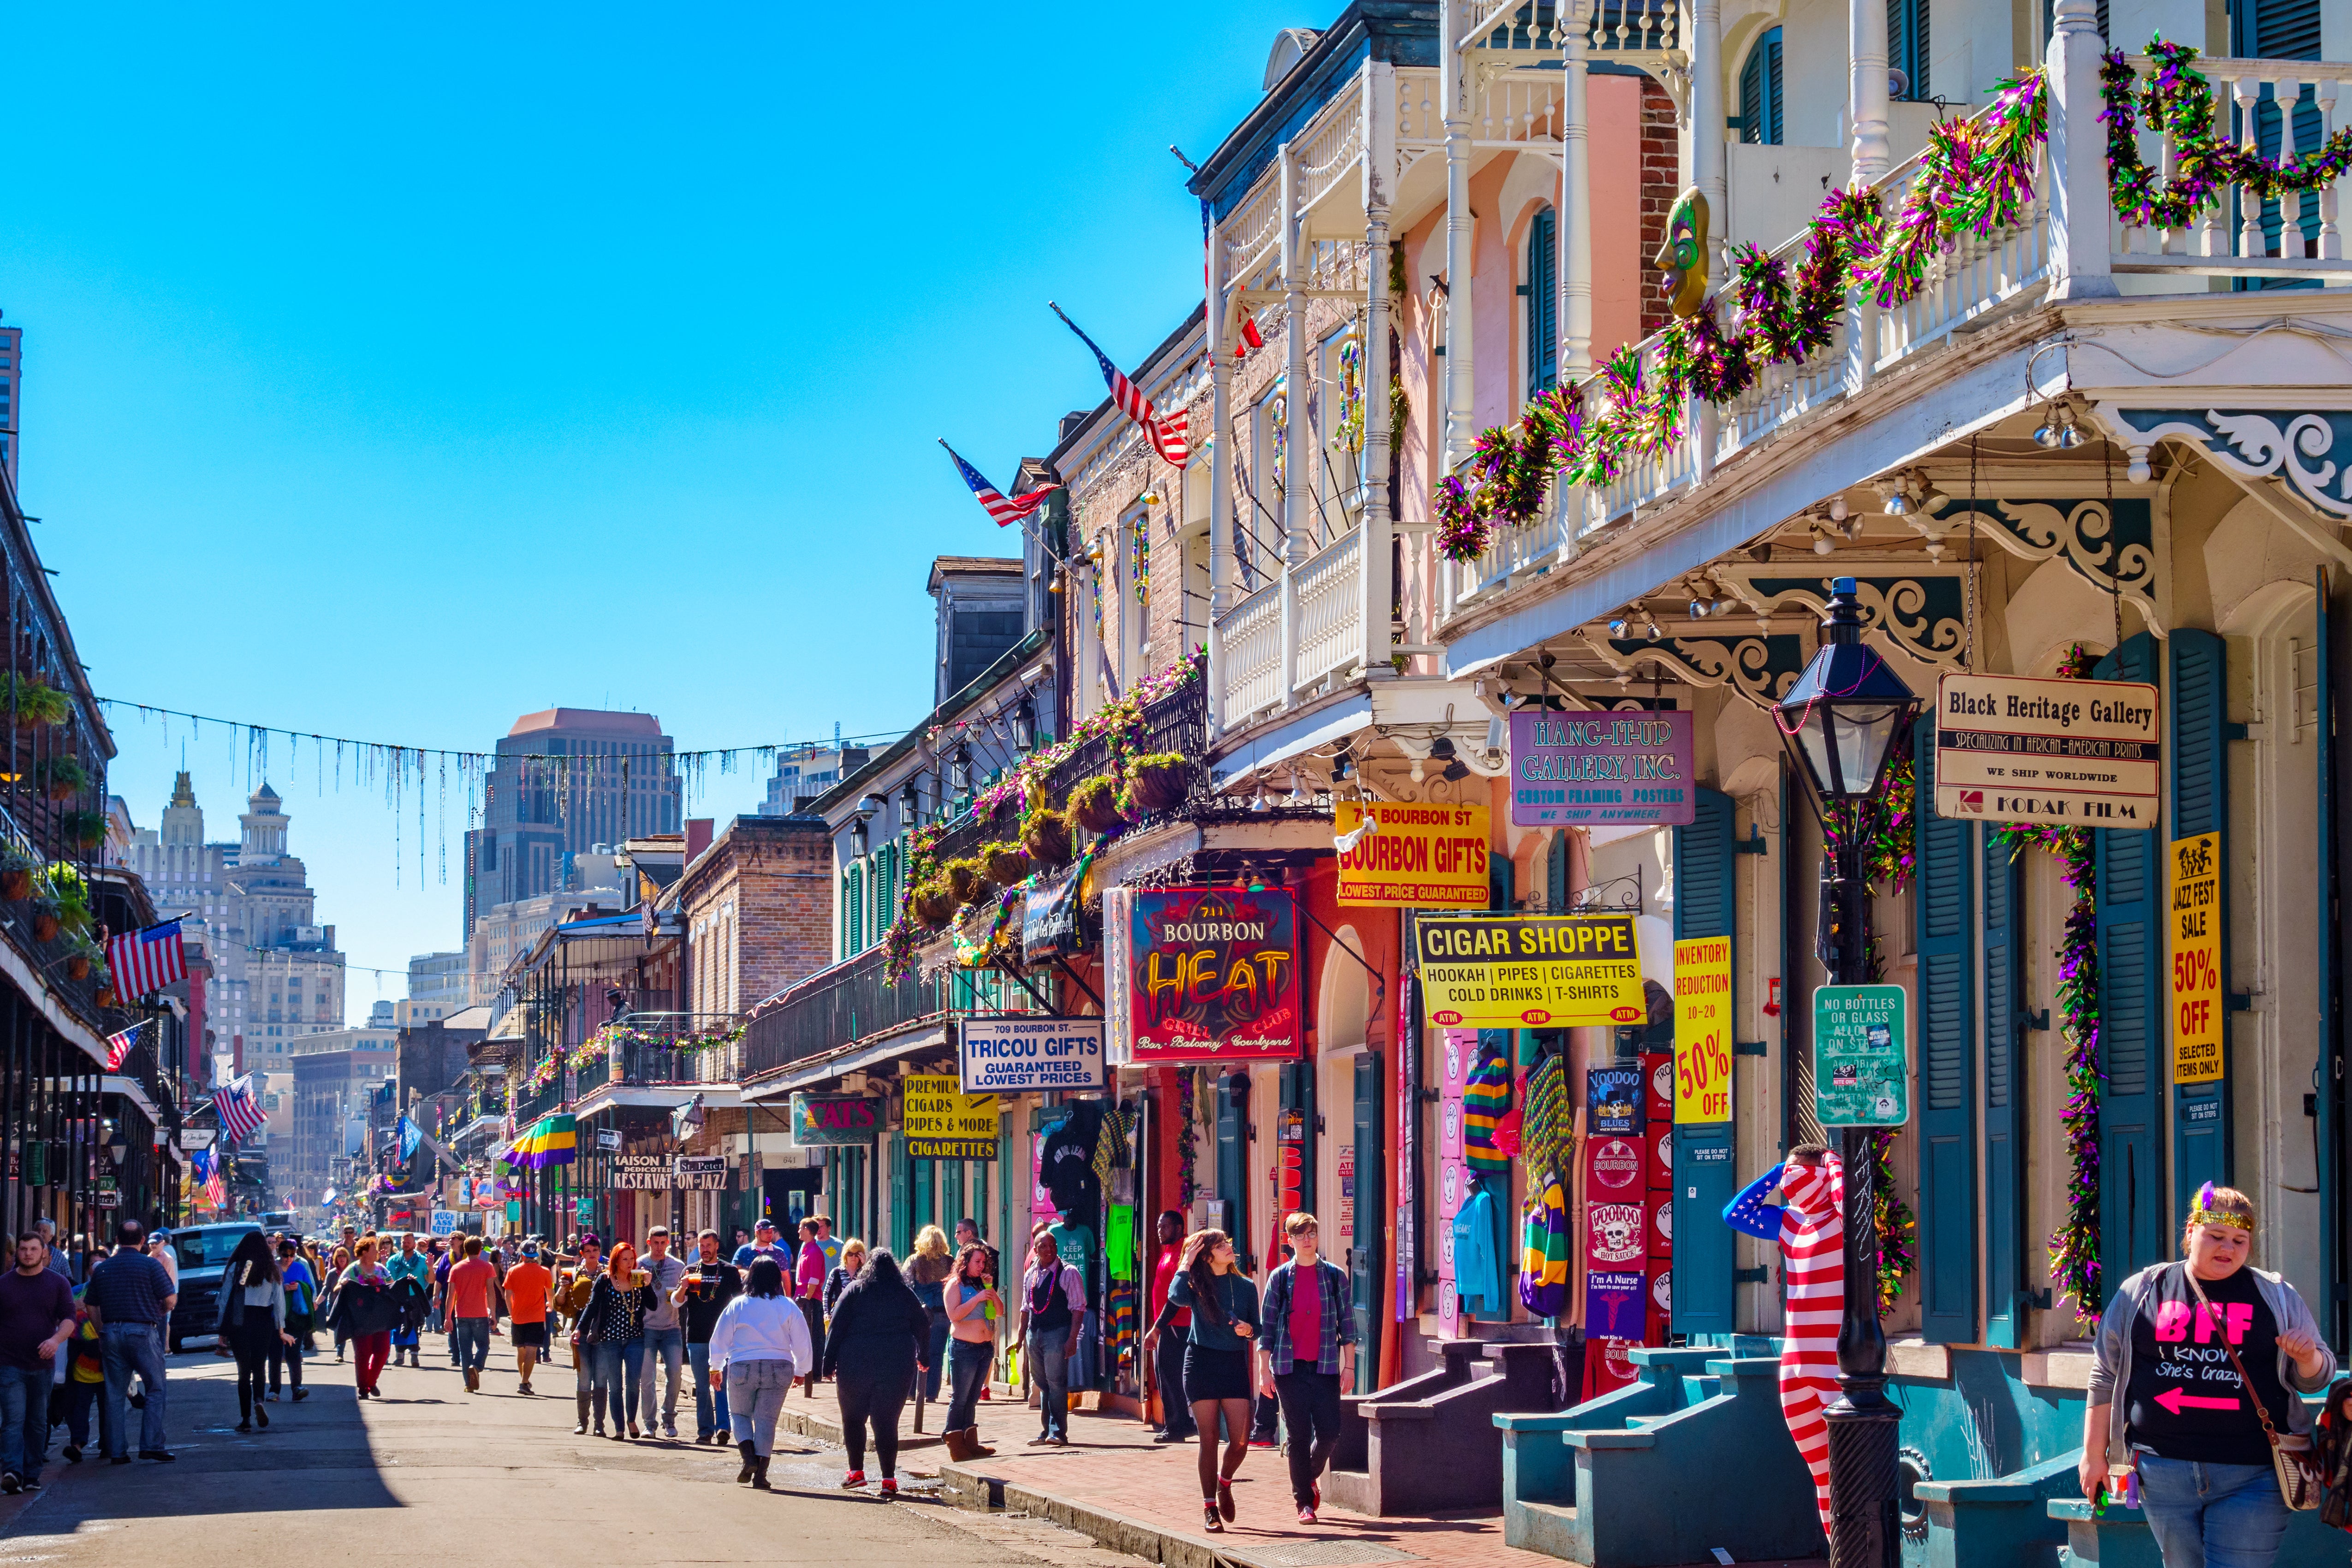
{"label": "cream Black Heritage Gallery hanging sign beside the lamp", "polygon": [[2147,682],[1950,672],[1936,686],[1936,816],[2157,825]]}

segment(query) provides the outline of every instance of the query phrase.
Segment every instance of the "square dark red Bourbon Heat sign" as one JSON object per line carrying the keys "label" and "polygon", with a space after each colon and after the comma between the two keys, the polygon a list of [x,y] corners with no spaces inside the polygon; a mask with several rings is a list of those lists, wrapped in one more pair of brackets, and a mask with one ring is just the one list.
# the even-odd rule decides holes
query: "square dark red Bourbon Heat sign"
{"label": "square dark red Bourbon Heat sign", "polygon": [[1136,889],[1129,936],[1138,1063],[1298,1056],[1298,903],[1289,889]]}

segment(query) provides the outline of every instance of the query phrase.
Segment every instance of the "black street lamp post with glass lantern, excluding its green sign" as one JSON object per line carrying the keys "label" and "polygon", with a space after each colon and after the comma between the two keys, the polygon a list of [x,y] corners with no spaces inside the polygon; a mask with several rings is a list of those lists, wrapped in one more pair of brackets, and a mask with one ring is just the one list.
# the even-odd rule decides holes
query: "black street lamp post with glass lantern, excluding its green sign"
{"label": "black street lamp post with glass lantern, excluding its green sign", "polygon": [[[1825,642],[1780,698],[1780,741],[1820,818],[1820,961],[1830,985],[1860,985],[1870,926],[1865,856],[1886,823],[1886,759],[1919,712],[1919,696],[1863,646],[1853,578],[1830,585]],[[1837,1403],[1830,1425],[1832,1568],[1896,1568],[1896,1420],[1879,1328],[1879,1232],[1867,1128],[1839,1128],[1844,1166],[1846,1305],[1837,1326]]]}

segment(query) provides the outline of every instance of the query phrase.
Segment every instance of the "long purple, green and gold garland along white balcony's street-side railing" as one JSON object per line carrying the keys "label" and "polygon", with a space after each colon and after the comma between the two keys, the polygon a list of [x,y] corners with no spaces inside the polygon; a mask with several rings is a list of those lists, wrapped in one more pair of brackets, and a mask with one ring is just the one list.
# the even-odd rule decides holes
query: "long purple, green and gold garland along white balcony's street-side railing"
{"label": "long purple, green and gold garland along white balcony's street-side railing", "polygon": [[1430,501],[1437,548],[1454,562],[1477,559],[1498,522],[1536,520],[1555,475],[1569,484],[1613,484],[1628,463],[1670,451],[1691,397],[1731,402],[1773,364],[1828,348],[1849,289],[1867,292],[1882,308],[1915,299],[1929,263],[1962,235],[1987,237],[2018,223],[2046,139],[2049,92],[2042,73],[2027,71],[2002,82],[1983,115],[1929,127],[1919,176],[1893,219],[1872,190],[1832,190],[1806,228],[1795,275],[1755,244],[1733,247],[1738,324],[1726,329],[1710,299],[1665,327],[1653,376],[1639,346],[1628,343],[1592,383],[1552,388],[1517,425],[1484,430],[1461,473],[1437,482]]}

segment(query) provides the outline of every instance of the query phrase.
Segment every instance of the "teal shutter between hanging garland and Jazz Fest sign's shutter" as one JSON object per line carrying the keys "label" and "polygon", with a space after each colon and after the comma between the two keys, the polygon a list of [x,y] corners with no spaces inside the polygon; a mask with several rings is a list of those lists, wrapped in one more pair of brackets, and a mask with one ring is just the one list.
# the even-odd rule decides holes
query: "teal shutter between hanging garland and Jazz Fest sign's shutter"
{"label": "teal shutter between hanging garland and Jazz Fest sign's shutter", "polygon": [[[2098,679],[2157,679],[2154,639],[2126,637],[2098,661]],[[2164,1001],[2159,896],[2164,858],[2157,832],[2100,827],[2098,856],[2098,992],[2100,1063],[2107,1084],[2098,1107],[2100,1281],[2114,1284],[2171,1255],[2164,1237],[2164,1077],[2157,1046]],[[2086,1302],[2089,1305],[2089,1302]]]}

